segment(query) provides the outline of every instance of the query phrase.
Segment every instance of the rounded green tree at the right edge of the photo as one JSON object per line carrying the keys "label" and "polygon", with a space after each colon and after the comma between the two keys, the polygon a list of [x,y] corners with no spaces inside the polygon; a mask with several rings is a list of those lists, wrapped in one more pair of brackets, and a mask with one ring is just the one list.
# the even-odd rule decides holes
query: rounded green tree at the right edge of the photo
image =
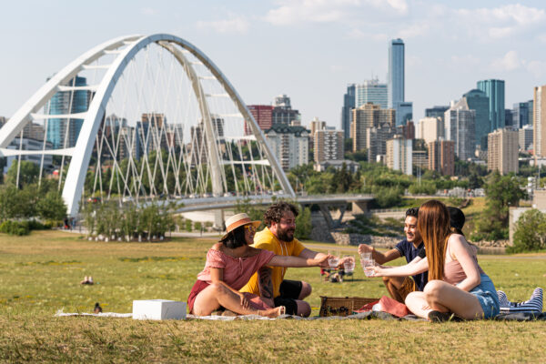
{"label": "rounded green tree at the right edge of the photo", "polygon": [[509,253],[519,253],[546,248],[546,214],[536,208],[521,214],[515,224],[514,245]]}

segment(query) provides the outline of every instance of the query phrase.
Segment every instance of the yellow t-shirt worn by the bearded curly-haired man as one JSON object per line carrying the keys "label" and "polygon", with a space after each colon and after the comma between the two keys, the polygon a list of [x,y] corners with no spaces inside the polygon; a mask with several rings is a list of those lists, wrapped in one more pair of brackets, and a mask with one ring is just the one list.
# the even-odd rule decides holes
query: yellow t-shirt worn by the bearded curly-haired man
{"label": "yellow t-shirt worn by the bearded curly-haired man", "polygon": [[[289,243],[278,240],[278,238],[269,231],[268,227],[264,228],[260,232],[256,233],[254,237],[254,248],[266,249],[272,251],[278,256],[292,256],[298,257],[299,254],[305,249],[303,244],[299,242],[297,238],[294,238]],[[280,296],[280,283],[284,279],[284,275],[287,271],[286,267],[270,267],[272,268],[271,280],[273,282],[273,298]],[[259,296],[258,288],[258,273],[254,273],[245,287],[239,289],[241,292],[250,292]]]}

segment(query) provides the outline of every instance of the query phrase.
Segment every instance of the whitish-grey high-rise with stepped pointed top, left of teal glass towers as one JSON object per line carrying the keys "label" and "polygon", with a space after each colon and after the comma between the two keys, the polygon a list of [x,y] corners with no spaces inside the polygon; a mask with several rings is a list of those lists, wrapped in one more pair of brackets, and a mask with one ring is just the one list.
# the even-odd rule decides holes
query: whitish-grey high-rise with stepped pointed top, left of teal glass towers
{"label": "whitish-grey high-rise with stepped pointed top, left of teal glass towers", "polygon": [[445,137],[455,142],[455,156],[467,160],[474,156],[476,111],[470,110],[466,98],[453,102],[445,113]]}

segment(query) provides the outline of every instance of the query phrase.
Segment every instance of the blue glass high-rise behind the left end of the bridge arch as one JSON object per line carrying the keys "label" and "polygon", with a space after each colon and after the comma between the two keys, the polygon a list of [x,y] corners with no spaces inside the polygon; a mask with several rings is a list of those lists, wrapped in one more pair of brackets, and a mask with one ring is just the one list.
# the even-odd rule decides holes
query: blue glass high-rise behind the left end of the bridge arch
{"label": "blue glass high-rise behind the left end of the bridge arch", "polygon": [[[63,86],[87,86],[86,77],[76,76]],[[91,101],[91,92],[76,89],[58,91],[45,106],[49,115],[74,115],[85,113]],[[54,149],[76,146],[77,136],[84,123],[84,116],[71,118],[52,118],[47,121],[47,141]]]}

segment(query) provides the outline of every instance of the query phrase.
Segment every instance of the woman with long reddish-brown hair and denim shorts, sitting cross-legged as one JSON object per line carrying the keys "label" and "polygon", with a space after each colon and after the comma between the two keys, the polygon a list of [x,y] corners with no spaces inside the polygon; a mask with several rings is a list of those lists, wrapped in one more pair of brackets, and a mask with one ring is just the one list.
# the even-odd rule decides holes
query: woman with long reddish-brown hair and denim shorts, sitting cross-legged
{"label": "woman with long reddish-brown hair and denim shorts, sitting cross-legged", "polygon": [[437,200],[424,203],[418,228],[427,258],[404,267],[375,267],[376,276],[407,276],[428,270],[429,283],[423,292],[410,293],[406,305],[430,321],[490,319],[498,315],[499,298],[493,282],[478,265],[466,239],[451,230],[448,208]]}

